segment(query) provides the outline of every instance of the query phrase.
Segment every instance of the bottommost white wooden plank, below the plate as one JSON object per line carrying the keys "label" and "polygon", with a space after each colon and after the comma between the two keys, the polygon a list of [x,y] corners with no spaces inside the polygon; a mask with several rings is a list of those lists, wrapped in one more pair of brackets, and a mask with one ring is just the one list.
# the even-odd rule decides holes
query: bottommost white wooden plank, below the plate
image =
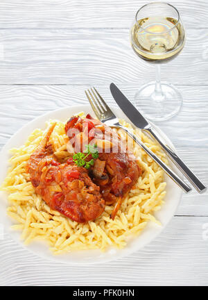
{"label": "bottommost white wooden plank, below the plate", "polygon": [[208,217],[174,217],[141,251],[92,266],[45,261],[6,237],[0,241],[0,285],[207,285],[207,223]]}

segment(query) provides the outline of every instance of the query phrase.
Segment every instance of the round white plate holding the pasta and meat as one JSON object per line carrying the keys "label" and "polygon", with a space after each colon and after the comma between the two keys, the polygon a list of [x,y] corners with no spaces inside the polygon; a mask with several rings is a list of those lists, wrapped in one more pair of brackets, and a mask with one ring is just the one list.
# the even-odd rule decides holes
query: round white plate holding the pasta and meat
{"label": "round white plate holding the pasta and meat", "polygon": [[[116,112],[116,115],[119,118],[125,119],[129,122],[128,118],[125,117],[125,115],[121,112],[119,108],[112,108],[114,112]],[[71,115],[74,115],[80,111],[84,111],[85,113],[90,113],[94,115],[92,112],[92,108],[89,105],[85,106],[72,106],[71,108],[62,108],[60,110],[55,110],[51,113],[47,113],[46,115],[42,115],[41,117],[37,117],[32,122],[29,122],[24,127],[22,127],[15,135],[10,138],[10,140],[7,142],[7,144],[3,147],[3,149],[0,152],[0,161],[1,161],[1,169],[0,169],[0,183],[2,183],[3,179],[6,177],[6,172],[8,169],[8,158],[10,158],[10,155],[8,153],[9,149],[13,147],[19,147],[28,138],[28,135],[32,133],[32,131],[35,128],[46,128],[45,122],[49,119],[59,119],[60,121],[67,121]],[[158,128],[155,126],[155,128],[158,130]],[[173,144],[171,144],[170,140],[159,131],[159,133],[162,135],[164,140],[173,147]],[[173,147],[174,149],[174,147]],[[170,165],[172,169],[177,173],[177,169],[175,166],[170,162]],[[178,174],[180,175],[180,174]],[[6,208],[8,206],[7,197],[6,194],[1,192],[0,194],[0,219],[1,223],[4,226],[4,229],[6,232],[10,233],[10,236],[16,240],[18,243],[22,245],[25,249],[28,249],[35,253],[38,256],[41,256],[44,259],[50,259],[54,260],[59,263],[67,263],[71,265],[86,265],[86,264],[95,264],[95,263],[105,263],[110,260],[115,260],[117,258],[121,258],[122,256],[130,255],[132,252],[135,252],[142,247],[144,247],[146,244],[151,242],[154,238],[157,237],[159,233],[165,228],[165,226],[168,224],[168,222],[173,217],[175,210],[177,209],[177,206],[180,202],[180,198],[182,195],[182,190],[169,178],[168,176],[165,177],[165,180],[167,182],[166,186],[166,197],[165,197],[165,203],[164,206],[162,206],[162,209],[159,210],[157,213],[155,213],[155,217],[159,219],[159,221],[162,223],[162,226],[158,226],[157,224],[153,222],[148,222],[148,225],[142,233],[135,238],[132,238],[128,241],[127,246],[124,249],[114,249],[110,248],[107,249],[104,253],[102,253],[99,250],[89,250],[89,251],[77,251],[77,252],[71,252],[66,253],[60,256],[53,256],[51,251],[49,251],[49,247],[45,242],[32,242],[32,244],[28,245],[27,247],[24,246],[23,242],[19,240],[20,233],[19,231],[11,231],[10,226],[14,224],[12,222],[12,219],[6,215]]]}

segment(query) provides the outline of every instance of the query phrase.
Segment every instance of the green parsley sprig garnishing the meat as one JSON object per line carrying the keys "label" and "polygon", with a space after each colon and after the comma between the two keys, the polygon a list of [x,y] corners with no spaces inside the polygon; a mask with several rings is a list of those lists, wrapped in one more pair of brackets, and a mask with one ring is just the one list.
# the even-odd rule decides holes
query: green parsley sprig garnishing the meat
{"label": "green parsley sprig garnishing the meat", "polygon": [[[89,169],[92,165],[94,165],[94,159],[98,158],[98,147],[96,144],[88,144],[85,145],[86,150],[84,153],[78,152],[73,154],[73,161],[78,165],[78,167],[85,167],[85,169]],[[87,153],[87,155],[85,155]],[[92,160],[86,161],[87,156],[92,155]]]}

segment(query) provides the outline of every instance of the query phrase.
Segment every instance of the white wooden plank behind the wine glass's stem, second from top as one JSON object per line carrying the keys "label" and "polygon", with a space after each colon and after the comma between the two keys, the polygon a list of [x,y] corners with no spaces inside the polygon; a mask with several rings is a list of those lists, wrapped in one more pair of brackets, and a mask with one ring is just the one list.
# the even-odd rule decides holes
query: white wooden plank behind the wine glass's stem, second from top
{"label": "white wooden plank behind the wine glass's stem, second from top", "polygon": [[[155,80],[155,65],[132,51],[127,29],[2,30],[1,84],[103,85],[139,87]],[[180,55],[162,65],[162,80],[207,84],[208,35],[187,30]],[[179,67],[180,66],[180,67]]]}

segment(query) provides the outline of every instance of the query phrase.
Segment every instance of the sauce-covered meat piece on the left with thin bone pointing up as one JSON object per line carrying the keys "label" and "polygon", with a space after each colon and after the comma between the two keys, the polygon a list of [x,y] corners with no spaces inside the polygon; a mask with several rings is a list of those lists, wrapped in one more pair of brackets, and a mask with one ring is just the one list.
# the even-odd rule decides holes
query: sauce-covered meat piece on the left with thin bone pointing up
{"label": "sauce-covered meat piece on the left with thin bone pointing up", "polygon": [[63,215],[76,222],[87,222],[99,217],[105,208],[100,188],[95,185],[83,167],[73,160],[60,164],[53,156],[49,138],[51,125],[42,142],[28,160],[27,171],[35,192]]}

